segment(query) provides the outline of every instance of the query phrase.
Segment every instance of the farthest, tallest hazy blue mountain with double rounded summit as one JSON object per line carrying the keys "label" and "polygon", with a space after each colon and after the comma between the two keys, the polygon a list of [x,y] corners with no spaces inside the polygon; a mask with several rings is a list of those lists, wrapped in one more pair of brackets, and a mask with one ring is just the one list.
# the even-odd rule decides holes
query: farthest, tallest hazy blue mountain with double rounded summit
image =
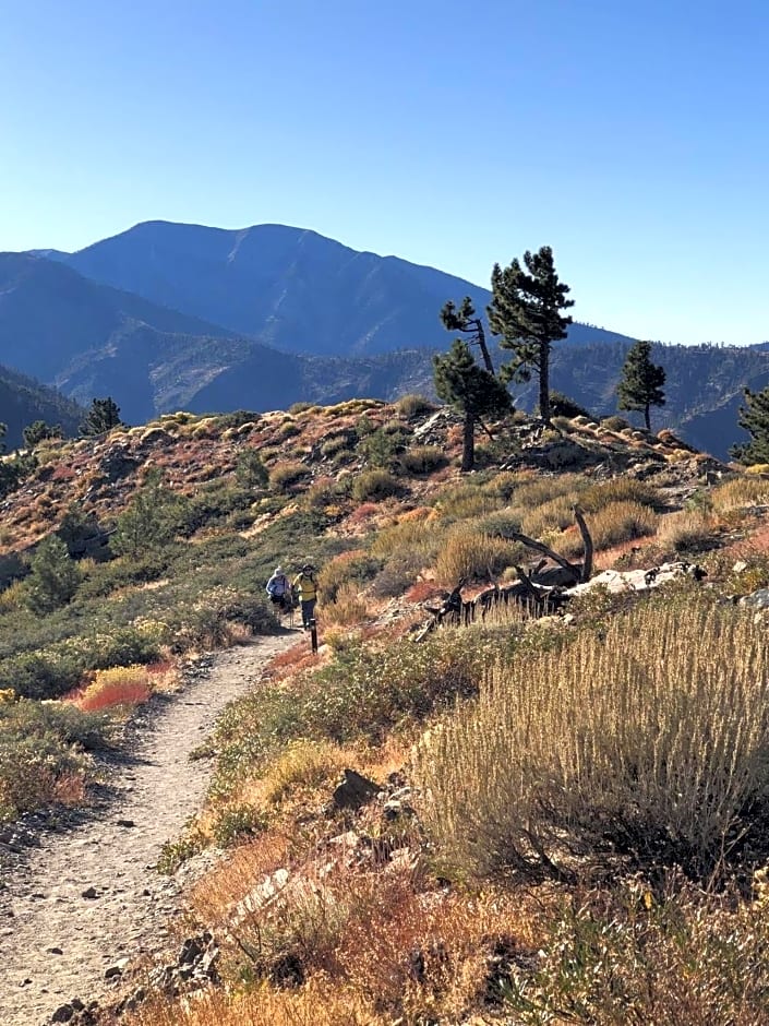
{"label": "farthest, tallest hazy blue mountain with double rounded summit", "polygon": [[[64,259],[94,281],[224,324],[291,353],[370,356],[443,347],[438,310],[486,289],[284,225],[224,230],[146,222]],[[574,325],[573,339],[625,336]]]}

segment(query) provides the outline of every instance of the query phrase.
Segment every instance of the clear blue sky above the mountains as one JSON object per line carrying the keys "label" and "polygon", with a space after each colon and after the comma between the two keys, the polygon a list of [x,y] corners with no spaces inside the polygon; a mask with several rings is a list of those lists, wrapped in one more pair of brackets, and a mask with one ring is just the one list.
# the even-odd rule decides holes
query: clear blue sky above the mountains
{"label": "clear blue sky above the mountains", "polygon": [[[0,249],[314,228],[574,315],[769,338],[766,0],[0,0]],[[460,298],[460,297],[456,297]]]}

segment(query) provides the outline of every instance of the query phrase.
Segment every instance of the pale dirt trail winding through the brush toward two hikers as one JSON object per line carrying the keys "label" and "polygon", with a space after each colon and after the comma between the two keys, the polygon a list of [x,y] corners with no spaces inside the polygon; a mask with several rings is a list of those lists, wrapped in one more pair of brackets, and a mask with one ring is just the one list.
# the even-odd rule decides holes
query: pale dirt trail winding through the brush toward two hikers
{"label": "pale dirt trail winding through the brush toward two hikers", "polygon": [[[155,869],[203,800],[212,765],[190,752],[224,706],[297,635],[217,654],[211,672],[165,700],[133,732],[129,760],[110,773],[110,797],[84,822],[46,833],[0,888],[0,1023],[36,1026],[73,998],[101,999],[105,971],[166,946],[180,884]],[[86,896],[87,895],[87,896]]]}

